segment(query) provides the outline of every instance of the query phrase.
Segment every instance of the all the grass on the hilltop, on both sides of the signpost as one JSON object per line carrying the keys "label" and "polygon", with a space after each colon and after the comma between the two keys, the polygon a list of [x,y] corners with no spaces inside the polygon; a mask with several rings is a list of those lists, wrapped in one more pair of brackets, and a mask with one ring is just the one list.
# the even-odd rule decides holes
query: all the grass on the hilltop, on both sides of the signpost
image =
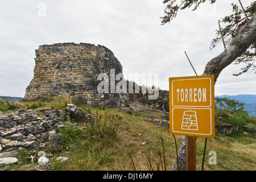
{"label": "all the grass on the hilltop, on both sides of the signpost", "polygon": [[[37,106],[48,106],[63,109],[63,104],[52,102],[35,102]],[[26,105],[26,103],[20,104]],[[32,105],[32,102],[29,104]],[[165,126],[156,127],[156,123],[143,121],[137,114],[127,113],[119,108],[100,108],[80,106],[96,116],[96,121],[89,122],[79,118],[79,122],[71,121],[58,132],[65,139],[61,150],[49,147],[51,152],[49,163],[55,170],[64,171],[103,171],[103,170],[167,170],[172,169],[176,158],[174,136],[169,134]],[[175,135],[177,148],[180,147],[181,136]],[[209,138],[205,152],[204,170],[255,170],[256,137],[243,134],[243,131],[222,136],[216,134]],[[197,170],[201,170],[205,138],[196,140]],[[47,143],[49,146],[49,143]],[[216,164],[209,164],[210,151],[216,152]],[[15,170],[27,170],[38,165],[37,160],[31,163],[31,155],[36,153],[19,151],[17,164],[11,164]],[[67,157],[65,163],[57,161],[59,156]]]}

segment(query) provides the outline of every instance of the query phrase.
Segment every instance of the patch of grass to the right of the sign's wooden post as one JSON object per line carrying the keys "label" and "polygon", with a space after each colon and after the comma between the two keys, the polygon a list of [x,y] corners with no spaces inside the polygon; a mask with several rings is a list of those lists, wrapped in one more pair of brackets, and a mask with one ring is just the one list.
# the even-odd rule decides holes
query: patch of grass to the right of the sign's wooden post
{"label": "patch of grass to the right of the sign's wooden post", "polygon": [[[217,154],[217,164],[210,165],[208,160],[210,156],[206,155],[205,170],[232,170],[248,171],[255,170],[256,164],[256,144],[255,135],[245,135],[241,132],[233,133],[228,136],[217,135],[214,139],[208,139],[207,154],[209,151],[215,151]],[[203,139],[199,138],[197,148],[200,151],[199,156],[203,155]],[[200,164],[201,160],[197,163]]]}

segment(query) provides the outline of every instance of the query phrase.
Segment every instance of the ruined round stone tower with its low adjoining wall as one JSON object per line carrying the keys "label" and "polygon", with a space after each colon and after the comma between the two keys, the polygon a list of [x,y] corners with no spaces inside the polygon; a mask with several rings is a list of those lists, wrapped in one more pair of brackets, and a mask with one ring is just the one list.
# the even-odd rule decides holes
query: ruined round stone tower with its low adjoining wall
{"label": "ruined round stone tower with its low adjoining wall", "polygon": [[155,109],[168,110],[169,93],[166,90],[159,90],[156,100],[148,100],[148,93],[98,93],[97,85],[101,81],[97,80],[97,76],[100,73],[110,76],[110,69],[115,69],[115,75],[122,73],[121,63],[104,46],[59,43],[39,46],[35,53],[34,78],[27,86],[24,101],[59,96],[61,90],[65,90],[86,105],[125,107],[124,101],[129,100]]}

